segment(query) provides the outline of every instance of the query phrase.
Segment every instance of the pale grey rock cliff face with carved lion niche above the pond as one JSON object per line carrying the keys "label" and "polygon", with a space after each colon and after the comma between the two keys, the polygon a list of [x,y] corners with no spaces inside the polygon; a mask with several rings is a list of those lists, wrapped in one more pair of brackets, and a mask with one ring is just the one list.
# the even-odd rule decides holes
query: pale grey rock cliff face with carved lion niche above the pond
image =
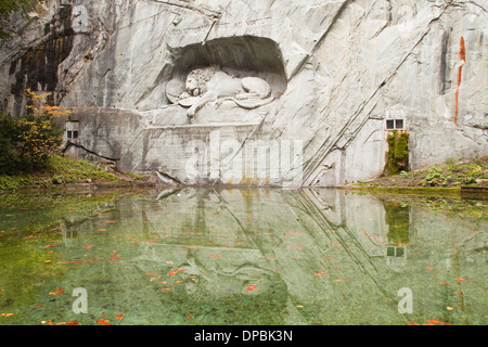
{"label": "pale grey rock cliff face with carved lion niche above the pond", "polygon": [[[47,9],[47,10],[46,10]],[[70,107],[73,155],[165,182],[337,185],[488,155],[488,1],[48,1],[0,54]],[[189,78],[194,76],[194,78]]]}

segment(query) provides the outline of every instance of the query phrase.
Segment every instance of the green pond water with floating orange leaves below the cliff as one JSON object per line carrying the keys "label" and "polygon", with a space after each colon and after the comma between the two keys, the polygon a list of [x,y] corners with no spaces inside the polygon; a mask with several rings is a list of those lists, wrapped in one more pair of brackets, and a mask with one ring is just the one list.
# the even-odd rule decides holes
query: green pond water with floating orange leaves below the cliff
{"label": "green pond water with floating orange leaves below the cliff", "polygon": [[328,189],[3,194],[0,325],[485,325],[487,205]]}

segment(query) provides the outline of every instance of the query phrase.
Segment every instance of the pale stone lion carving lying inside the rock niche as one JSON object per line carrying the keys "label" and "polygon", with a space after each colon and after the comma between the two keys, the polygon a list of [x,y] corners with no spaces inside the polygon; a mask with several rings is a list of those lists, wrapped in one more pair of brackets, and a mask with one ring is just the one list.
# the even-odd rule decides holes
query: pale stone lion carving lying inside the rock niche
{"label": "pale stone lion carving lying inside the rock niche", "polygon": [[166,94],[174,104],[189,107],[189,117],[194,117],[209,102],[230,100],[240,107],[253,110],[274,100],[266,80],[258,77],[235,78],[215,67],[192,70],[184,86],[177,80],[169,81]]}

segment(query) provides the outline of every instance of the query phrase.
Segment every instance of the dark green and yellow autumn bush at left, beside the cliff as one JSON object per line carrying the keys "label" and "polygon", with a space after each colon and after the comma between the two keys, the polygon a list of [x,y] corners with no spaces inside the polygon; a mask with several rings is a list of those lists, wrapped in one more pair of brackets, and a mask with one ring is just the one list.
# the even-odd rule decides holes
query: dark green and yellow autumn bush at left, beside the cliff
{"label": "dark green and yellow autumn bush at left, beside the cliff", "polygon": [[0,115],[0,175],[33,172],[48,167],[49,158],[62,142],[62,129],[54,117],[69,113],[43,104],[47,94],[27,90],[28,114]]}

